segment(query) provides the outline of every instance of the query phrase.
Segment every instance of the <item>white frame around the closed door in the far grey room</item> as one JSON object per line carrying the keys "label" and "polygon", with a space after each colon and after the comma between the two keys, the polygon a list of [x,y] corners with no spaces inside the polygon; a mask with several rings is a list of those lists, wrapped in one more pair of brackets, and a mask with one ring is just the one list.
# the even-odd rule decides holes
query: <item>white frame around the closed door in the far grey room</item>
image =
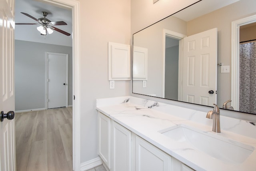
{"label": "white frame around the closed door in the far grey room", "polygon": [[48,109],[48,74],[49,74],[49,60],[48,60],[48,56],[49,55],[61,55],[61,56],[65,56],[66,58],[66,106],[68,107],[68,54],[61,54],[61,53],[54,53],[54,52],[45,52],[45,109]]}

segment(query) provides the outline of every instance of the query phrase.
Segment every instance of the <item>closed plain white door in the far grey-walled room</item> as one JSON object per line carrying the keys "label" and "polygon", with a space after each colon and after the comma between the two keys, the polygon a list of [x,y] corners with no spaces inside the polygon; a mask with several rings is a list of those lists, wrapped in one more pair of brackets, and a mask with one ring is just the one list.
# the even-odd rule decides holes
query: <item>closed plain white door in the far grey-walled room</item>
{"label": "closed plain white door in the far grey-walled room", "polygon": [[68,54],[46,52],[48,72],[46,106],[68,107]]}

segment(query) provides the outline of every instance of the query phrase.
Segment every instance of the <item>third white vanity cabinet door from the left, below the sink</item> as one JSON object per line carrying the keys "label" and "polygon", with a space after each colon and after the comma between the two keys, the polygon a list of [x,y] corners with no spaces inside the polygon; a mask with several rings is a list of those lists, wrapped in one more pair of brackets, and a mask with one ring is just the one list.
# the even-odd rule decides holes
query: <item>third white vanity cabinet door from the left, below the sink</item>
{"label": "third white vanity cabinet door from the left, below the sink", "polygon": [[136,136],[136,171],[170,171],[171,157]]}

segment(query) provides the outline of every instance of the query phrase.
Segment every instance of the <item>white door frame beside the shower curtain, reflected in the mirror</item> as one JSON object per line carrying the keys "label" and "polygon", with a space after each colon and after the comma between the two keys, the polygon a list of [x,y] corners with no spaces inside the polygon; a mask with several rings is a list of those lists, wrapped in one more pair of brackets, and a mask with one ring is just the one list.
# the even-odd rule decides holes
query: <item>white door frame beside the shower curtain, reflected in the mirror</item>
{"label": "white door frame beside the shower curtain, reflected in the mirror", "polygon": [[231,105],[235,110],[239,110],[239,42],[240,42],[240,26],[256,22],[256,15],[241,18],[232,22],[231,31]]}

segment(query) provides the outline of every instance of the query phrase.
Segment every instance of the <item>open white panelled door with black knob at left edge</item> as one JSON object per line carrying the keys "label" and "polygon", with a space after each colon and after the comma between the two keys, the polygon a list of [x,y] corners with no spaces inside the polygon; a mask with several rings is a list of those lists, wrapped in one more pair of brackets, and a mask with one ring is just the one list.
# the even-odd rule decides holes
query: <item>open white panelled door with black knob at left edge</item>
{"label": "open white panelled door with black knob at left edge", "polygon": [[[0,0],[0,111],[14,111],[14,0]],[[15,171],[14,112],[0,122],[0,170]],[[12,119],[12,120],[9,120]]]}

